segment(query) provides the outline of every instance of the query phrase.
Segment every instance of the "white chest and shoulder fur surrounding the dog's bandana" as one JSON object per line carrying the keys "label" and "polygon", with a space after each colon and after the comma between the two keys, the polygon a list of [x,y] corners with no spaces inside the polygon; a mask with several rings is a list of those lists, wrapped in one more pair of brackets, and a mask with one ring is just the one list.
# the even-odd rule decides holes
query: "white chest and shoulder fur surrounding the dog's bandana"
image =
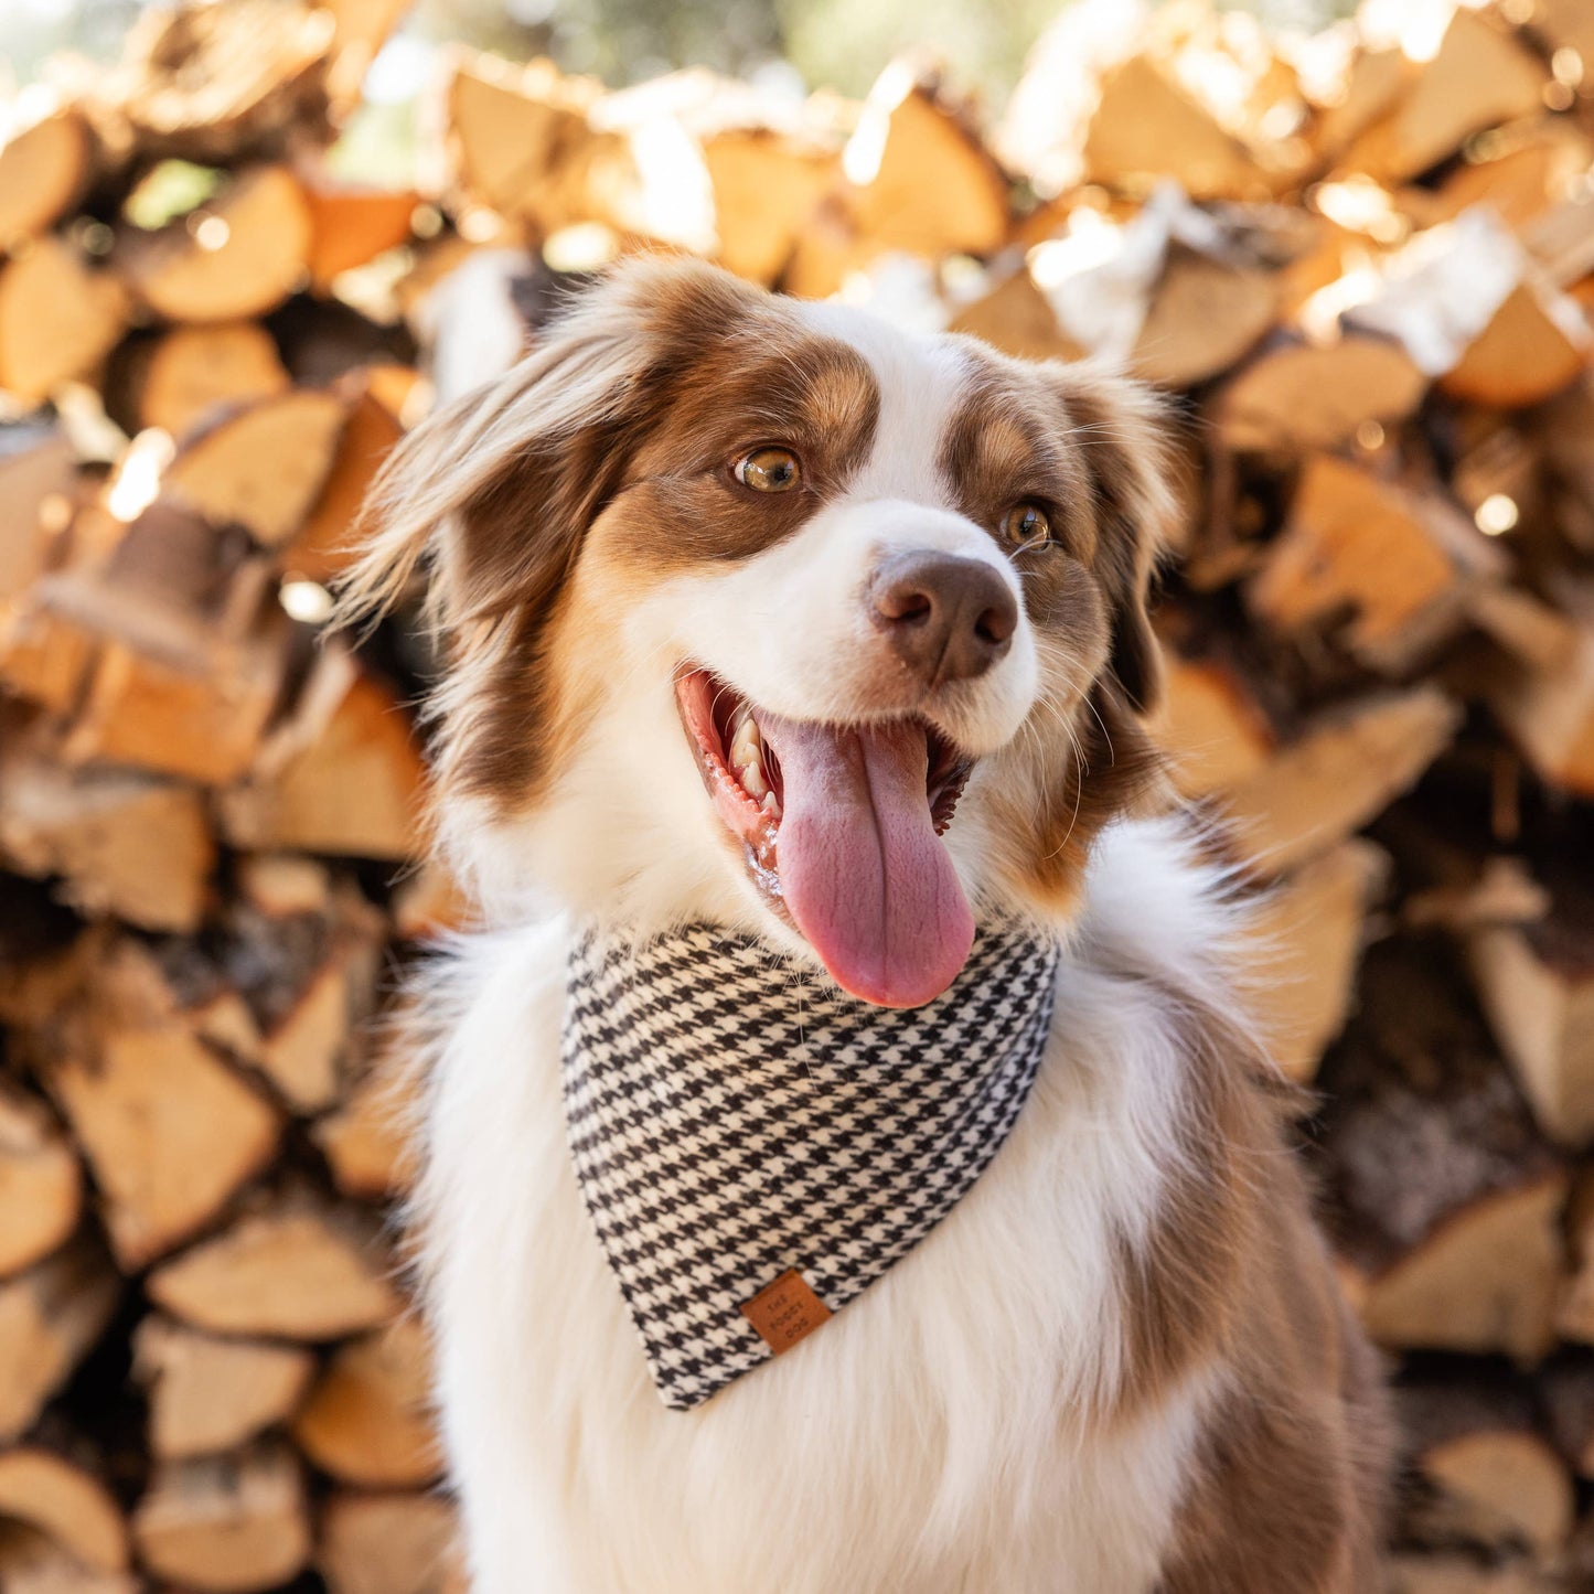
{"label": "white chest and shoulder fur surrounding the dog's bandana", "polygon": [[1165,1009],[1109,953],[1194,966],[1227,926],[1167,826],[1121,827],[1092,875],[1039,1079],[985,1176],[692,1412],[660,1403],[571,1173],[564,926],[478,937],[440,972],[421,1213],[478,1594],[1154,1584],[1221,1372],[1132,1423],[1081,1415],[1117,1382],[1114,1256],[1159,1210],[1183,1081]]}

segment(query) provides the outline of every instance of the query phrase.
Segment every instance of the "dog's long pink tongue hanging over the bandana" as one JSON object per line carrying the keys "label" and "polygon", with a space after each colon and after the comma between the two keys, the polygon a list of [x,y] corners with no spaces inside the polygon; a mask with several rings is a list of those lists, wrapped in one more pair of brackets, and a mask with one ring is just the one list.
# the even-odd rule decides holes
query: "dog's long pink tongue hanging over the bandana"
{"label": "dog's long pink tongue hanging over the bandana", "polygon": [[923,727],[759,716],[781,762],[786,907],[830,977],[883,1007],[918,1007],[958,976],[974,915],[929,815]]}

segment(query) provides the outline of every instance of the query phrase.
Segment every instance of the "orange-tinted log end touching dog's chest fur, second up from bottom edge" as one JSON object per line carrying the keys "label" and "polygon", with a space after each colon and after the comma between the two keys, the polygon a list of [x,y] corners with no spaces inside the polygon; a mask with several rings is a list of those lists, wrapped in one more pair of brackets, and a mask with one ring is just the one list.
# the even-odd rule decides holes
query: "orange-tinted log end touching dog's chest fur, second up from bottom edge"
{"label": "orange-tinted log end touching dog's chest fur, second up from bottom edge", "polygon": [[427,1415],[430,1349],[416,1318],[344,1345],[293,1422],[309,1460],[340,1482],[406,1489],[440,1470]]}

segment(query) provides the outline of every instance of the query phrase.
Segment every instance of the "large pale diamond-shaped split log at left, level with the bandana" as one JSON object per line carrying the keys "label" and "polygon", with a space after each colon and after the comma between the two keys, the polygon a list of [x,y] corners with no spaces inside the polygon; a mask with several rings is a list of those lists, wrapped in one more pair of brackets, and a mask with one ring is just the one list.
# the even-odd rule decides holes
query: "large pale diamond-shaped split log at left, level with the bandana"
{"label": "large pale diamond-shaped split log at left, level with the bandana", "polygon": [[131,944],[108,964],[99,1006],[89,1036],[49,1060],[46,1082],[131,1270],[209,1224],[271,1160],[281,1121],[177,1019]]}

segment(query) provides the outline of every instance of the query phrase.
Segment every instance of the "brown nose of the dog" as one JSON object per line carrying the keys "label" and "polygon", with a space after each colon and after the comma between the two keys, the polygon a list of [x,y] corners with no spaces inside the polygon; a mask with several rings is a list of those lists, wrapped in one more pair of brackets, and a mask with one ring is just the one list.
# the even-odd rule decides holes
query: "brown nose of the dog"
{"label": "brown nose of the dog", "polygon": [[972,681],[1012,646],[1019,604],[983,559],[893,553],[869,588],[869,617],[928,687]]}

